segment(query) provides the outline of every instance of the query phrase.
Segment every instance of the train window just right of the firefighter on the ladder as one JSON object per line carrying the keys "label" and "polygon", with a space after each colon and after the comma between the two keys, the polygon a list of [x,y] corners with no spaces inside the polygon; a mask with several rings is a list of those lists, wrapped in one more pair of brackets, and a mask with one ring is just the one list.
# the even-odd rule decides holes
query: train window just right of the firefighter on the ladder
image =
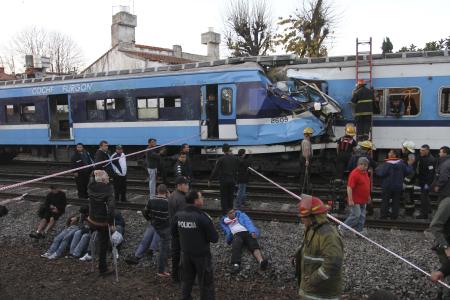
{"label": "train window just right of the firefighter on the ladder", "polygon": [[394,116],[415,116],[420,112],[420,91],[418,88],[390,88],[389,114]]}

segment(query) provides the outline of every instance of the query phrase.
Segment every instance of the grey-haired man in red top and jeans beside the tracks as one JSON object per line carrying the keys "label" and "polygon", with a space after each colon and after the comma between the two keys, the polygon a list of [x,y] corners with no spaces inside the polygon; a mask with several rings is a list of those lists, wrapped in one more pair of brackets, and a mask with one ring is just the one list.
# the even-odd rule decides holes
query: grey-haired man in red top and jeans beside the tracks
{"label": "grey-haired man in red top and jeans beside the tracks", "polygon": [[[366,157],[360,157],[357,167],[353,169],[348,177],[347,184],[347,203],[350,207],[350,215],[344,223],[359,232],[363,231],[366,220],[366,205],[371,201],[368,167],[369,160]],[[344,228],[339,226],[339,229],[342,230]]]}

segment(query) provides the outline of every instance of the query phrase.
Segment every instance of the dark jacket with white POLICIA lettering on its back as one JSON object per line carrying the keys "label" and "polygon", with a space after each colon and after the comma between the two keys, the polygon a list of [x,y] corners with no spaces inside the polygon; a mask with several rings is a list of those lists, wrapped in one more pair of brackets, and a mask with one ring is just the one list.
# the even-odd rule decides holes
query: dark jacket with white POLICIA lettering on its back
{"label": "dark jacket with white POLICIA lettering on its back", "polygon": [[209,243],[217,243],[219,240],[211,218],[193,205],[176,213],[172,223],[172,237],[179,239],[183,253],[198,257],[210,254]]}

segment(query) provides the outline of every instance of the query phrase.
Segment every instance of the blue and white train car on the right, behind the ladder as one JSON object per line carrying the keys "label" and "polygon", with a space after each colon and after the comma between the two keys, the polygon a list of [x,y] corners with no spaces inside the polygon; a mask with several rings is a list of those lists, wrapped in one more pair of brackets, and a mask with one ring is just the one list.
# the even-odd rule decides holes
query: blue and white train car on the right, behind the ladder
{"label": "blue and white train car on the right, behind the ladder", "polygon": [[[399,148],[405,140],[433,149],[450,144],[448,50],[373,55],[372,75],[376,94],[373,142],[378,149]],[[343,108],[344,119],[335,123],[336,136],[342,135],[345,123],[353,120],[349,102],[355,87],[355,56],[308,59],[288,66],[287,76],[292,81],[322,83]],[[408,101],[394,114],[396,100]]]}

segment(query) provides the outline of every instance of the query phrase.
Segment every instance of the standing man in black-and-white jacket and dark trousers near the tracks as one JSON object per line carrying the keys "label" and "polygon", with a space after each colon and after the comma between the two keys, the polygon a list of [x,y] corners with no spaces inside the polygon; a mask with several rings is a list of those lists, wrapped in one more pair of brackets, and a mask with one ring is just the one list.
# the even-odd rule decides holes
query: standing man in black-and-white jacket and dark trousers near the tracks
{"label": "standing man in black-and-white jacket and dark trousers near the tracks", "polygon": [[116,202],[127,202],[127,158],[122,145],[116,146],[111,162],[114,170],[114,197]]}

